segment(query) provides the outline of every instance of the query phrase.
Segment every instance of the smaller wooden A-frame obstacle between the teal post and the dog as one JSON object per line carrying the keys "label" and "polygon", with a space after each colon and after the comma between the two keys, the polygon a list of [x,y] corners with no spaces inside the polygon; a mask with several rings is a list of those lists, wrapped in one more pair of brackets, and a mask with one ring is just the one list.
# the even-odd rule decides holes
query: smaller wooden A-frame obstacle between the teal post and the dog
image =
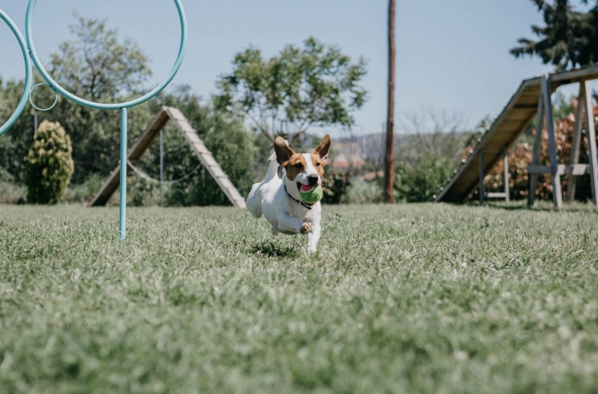
{"label": "smaller wooden A-frame obstacle between the teal post and the dog", "polygon": [[[155,115],[153,120],[150,122],[148,127],[132,148],[127,153],[127,172],[132,170],[131,164],[136,165],[141,158],[141,155],[151,145],[155,137],[159,134],[160,130],[166,125],[168,120],[172,120],[174,125],[177,127],[179,132],[183,135],[184,139],[189,143],[193,152],[198,156],[201,165],[208,170],[212,178],[216,181],[220,189],[226,194],[229,201],[233,206],[238,208],[245,208],[245,198],[238,193],[236,187],[230,181],[227,174],[224,174],[222,168],[212,156],[212,153],[205,147],[203,141],[197,135],[197,132],[191,127],[189,121],[184,117],[180,110],[172,107],[162,107],[160,113]],[[120,186],[120,165],[117,165],[113,172],[110,172],[110,176],[102,184],[96,196],[89,203],[89,206],[106,205],[110,196]]]}

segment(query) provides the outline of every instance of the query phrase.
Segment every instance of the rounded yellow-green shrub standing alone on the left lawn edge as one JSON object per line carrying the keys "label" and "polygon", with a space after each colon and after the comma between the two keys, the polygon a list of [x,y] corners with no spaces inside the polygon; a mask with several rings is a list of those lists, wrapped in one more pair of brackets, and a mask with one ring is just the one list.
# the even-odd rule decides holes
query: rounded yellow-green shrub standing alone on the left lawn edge
{"label": "rounded yellow-green shrub standing alone on the left lawn edge", "polygon": [[74,167],[70,137],[60,123],[44,120],[25,157],[27,200],[36,204],[58,203]]}

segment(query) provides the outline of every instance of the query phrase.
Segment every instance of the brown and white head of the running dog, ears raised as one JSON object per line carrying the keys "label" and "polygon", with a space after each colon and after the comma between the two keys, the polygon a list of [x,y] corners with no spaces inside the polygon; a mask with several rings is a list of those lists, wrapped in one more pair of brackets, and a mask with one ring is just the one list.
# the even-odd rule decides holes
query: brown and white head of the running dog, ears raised
{"label": "brown and white head of the running dog, ears raised", "polygon": [[301,185],[322,185],[324,165],[328,163],[329,150],[330,136],[328,134],[324,136],[313,153],[295,153],[281,136],[274,140],[276,161],[285,168],[286,177],[290,181],[296,182],[299,190]]}

